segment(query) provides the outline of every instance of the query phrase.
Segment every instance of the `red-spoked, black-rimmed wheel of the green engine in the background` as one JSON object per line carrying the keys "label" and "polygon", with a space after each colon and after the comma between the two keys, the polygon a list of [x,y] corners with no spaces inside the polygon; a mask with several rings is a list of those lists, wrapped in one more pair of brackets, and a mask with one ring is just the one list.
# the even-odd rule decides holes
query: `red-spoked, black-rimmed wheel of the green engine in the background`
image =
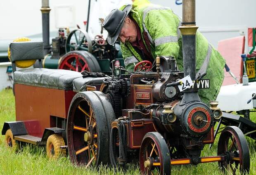
{"label": "red-spoked, black-rimmed wheel of the green engine in the background", "polygon": [[82,72],[101,72],[97,59],[87,51],[71,51],[59,60],[58,69]]}

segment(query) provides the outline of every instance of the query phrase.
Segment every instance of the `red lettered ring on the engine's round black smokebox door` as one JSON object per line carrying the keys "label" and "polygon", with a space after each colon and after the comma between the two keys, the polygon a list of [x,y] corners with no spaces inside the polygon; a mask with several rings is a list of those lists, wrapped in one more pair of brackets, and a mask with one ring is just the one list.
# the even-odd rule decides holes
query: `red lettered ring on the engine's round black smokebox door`
{"label": "red lettered ring on the engine's round black smokebox door", "polygon": [[[201,111],[202,113],[204,113],[207,117],[207,123],[206,125],[204,125],[204,127],[202,128],[196,128],[194,127],[194,125],[192,124],[191,120],[192,120],[192,116],[195,112],[197,111]],[[209,111],[207,111],[205,108],[202,108],[202,107],[195,107],[193,108],[189,114],[188,114],[188,117],[187,117],[187,124],[188,124],[188,127],[194,131],[194,132],[197,132],[197,133],[202,133],[204,131],[206,131],[209,127],[210,127],[210,124],[211,124],[211,115],[209,113]]]}

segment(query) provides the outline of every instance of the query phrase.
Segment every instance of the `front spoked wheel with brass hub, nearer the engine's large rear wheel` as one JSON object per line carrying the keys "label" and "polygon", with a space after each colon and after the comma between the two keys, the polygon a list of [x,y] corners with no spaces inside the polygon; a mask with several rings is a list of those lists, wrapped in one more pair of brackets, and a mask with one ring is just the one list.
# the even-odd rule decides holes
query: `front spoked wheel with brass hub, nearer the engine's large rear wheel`
{"label": "front spoked wheel with brass hub, nearer the engine's large rear wheel", "polygon": [[147,133],[140,147],[140,170],[146,175],[170,175],[171,159],[168,146],[158,132]]}

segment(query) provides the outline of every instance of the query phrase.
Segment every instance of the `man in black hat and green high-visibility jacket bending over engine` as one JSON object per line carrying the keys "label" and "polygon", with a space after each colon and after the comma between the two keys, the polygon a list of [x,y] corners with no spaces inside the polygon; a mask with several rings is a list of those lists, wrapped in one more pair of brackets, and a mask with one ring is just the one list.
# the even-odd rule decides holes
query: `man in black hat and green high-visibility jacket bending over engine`
{"label": "man in black hat and green high-visibility jacket bending over engine", "polygon": [[[173,56],[183,70],[182,36],[178,27],[180,18],[171,9],[153,5],[148,0],[135,0],[122,10],[114,9],[104,21],[109,33],[108,42],[119,38],[126,69],[133,69],[142,60],[154,61],[157,55]],[[206,38],[196,35],[196,71],[210,79],[210,89],[199,91],[202,101],[215,100],[224,79],[225,60]]]}

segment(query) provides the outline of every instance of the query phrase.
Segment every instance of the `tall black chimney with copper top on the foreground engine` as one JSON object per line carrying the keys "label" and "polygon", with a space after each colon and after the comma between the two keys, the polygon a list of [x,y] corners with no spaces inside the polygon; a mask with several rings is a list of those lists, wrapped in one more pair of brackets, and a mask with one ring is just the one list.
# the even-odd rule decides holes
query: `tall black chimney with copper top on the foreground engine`
{"label": "tall black chimney with copper top on the foreground engine", "polygon": [[[179,27],[182,35],[183,69],[184,76],[190,75],[192,80],[196,79],[196,2],[195,0],[183,0],[182,4],[182,26]],[[201,101],[198,90],[187,89],[184,91],[181,104],[190,101]]]}

